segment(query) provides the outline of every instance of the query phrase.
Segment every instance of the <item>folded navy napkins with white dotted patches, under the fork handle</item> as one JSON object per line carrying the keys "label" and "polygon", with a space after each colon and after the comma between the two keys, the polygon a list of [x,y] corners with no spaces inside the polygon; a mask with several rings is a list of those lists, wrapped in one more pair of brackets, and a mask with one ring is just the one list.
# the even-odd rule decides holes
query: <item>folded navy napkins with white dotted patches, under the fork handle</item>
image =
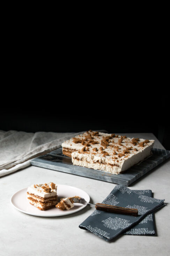
{"label": "folded navy napkins with white dotted patches, under the fork handle", "polygon": [[137,217],[95,210],[79,225],[81,229],[90,231],[106,241],[111,241],[121,233],[155,235],[152,212],[165,205],[164,200],[152,197],[151,190],[133,191],[124,185],[115,186],[102,203],[138,209]]}

